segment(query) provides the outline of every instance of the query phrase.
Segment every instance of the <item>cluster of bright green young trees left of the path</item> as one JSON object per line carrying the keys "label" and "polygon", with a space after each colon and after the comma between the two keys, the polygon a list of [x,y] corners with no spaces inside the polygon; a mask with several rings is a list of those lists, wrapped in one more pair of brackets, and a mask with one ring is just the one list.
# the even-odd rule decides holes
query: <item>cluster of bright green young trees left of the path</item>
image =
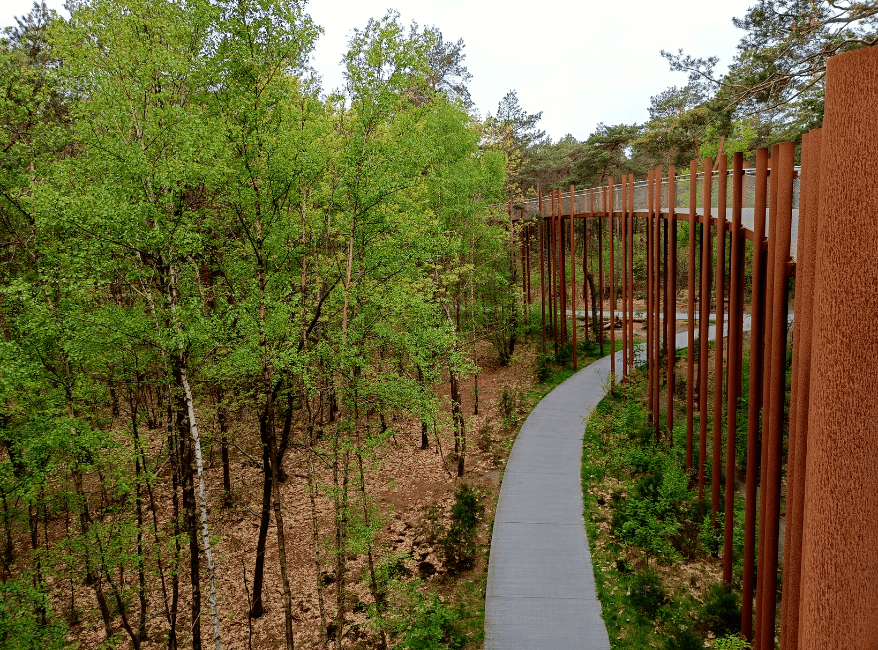
{"label": "cluster of bright green young trees left of the path", "polygon": [[462,43],[371,20],[324,97],[319,34],[300,0],[81,0],[6,30],[3,647],[61,647],[96,608],[135,648],[156,628],[168,648],[220,648],[213,518],[245,448],[263,477],[250,614],[273,518],[293,647],[279,486],[296,448],[318,586],[334,574],[321,635],[340,647],[355,542],[373,564],[364,465],[395,413],[431,444],[447,380],[463,473],[474,341],[518,322],[512,226],[490,209],[507,151],[467,112]]}

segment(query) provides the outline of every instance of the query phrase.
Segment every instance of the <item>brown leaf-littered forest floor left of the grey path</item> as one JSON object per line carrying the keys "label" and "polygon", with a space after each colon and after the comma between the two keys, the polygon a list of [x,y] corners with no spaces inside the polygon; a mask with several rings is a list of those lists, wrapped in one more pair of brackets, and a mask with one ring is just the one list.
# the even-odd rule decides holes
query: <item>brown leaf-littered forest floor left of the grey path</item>
{"label": "brown leaf-littered forest floor left of the grey path", "polygon": [[[588,344],[583,344],[588,349]],[[595,344],[591,344],[597,348]],[[548,344],[551,347],[551,343]],[[606,346],[605,346],[606,347]],[[376,565],[390,566],[395,575],[402,578],[421,595],[408,605],[430,616],[430,598],[434,594],[443,603],[446,613],[454,620],[451,627],[461,632],[454,647],[481,647],[484,621],[484,591],[487,575],[487,555],[490,549],[490,530],[499,495],[499,485],[506,460],[515,440],[518,428],[539,400],[555,385],[566,379],[572,370],[549,363],[540,357],[540,342],[520,341],[511,362],[500,365],[497,354],[485,344],[478,350],[478,413],[476,413],[476,377],[471,376],[461,386],[463,412],[466,417],[469,438],[466,471],[456,477],[455,467],[448,460],[453,450],[450,431],[440,431],[437,438],[430,434],[428,449],[422,450],[420,422],[409,414],[386,414],[389,432],[388,443],[375,449],[368,460],[365,483],[374,506],[372,514],[380,522],[380,532],[373,539],[373,555]],[[606,347],[606,352],[609,348]],[[580,367],[595,357],[580,355]],[[567,360],[569,366],[569,359]],[[536,370],[544,366],[545,381],[540,381]],[[436,387],[449,409],[447,383]],[[261,492],[263,474],[258,432],[252,417],[246,414],[229,422],[229,436],[234,443],[231,448],[232,505],[222,505],[222,465],[218,444],[218,423],[210,404],[199,409],[203,444],[205,446],[205,477],[207,488],[210,533],[217,576],[217,610],[220,632],[225,648],[262,650],[283,647],[284,614],[283,592],[280,578],[277,531],[274,517],[269,527],[265,555],[265,586],[263,600],[265,613],[258,619],[248,615],[253,589],[253,571],[256,560],[256,543],[262,509]],[[124,417],[124,414],[123,416]],[[295,428],[294,428],[295,429]],[[440,427],[441,429],[441,427]],[[158,455],[164,443],[159,430],[147,432],[153,452]],[[295,444],[287,452],[284,468],[287,480],[280,486],[286,535],[286,555],[292,591],[295,643],[298,648],[319,648],[322,645],[322,628],[329,625],[335,615],[336,593],[332,562],[332,535],[334,510],[329,496],[332,475],[327,468],[314,464],[316,483],[319,486],[316,499],[317,526],[319,530],[320,572],[324,587],[324,612],[321,616],[318,589],[315,545],[313,539],[314,519],[308,492],[307,466],[303,431],[294,433]],[[155,457],[155,456],[153,456]],[[161,545],[154,548],[163,555],[165,586],[168,590],[169,563],[173,553],[172,503],[170,466],[156,471],[153,486],[155,516],[162,538]],[[437,548],[441,532],[448,529],[449,513],[454,503],[454,491],[467,483],[475,488],[484,508],[477,536],[477,552],[471,568],[454,572],[443,566],[442,553]],[[152,517],[152,513],[147,514]],[[65,523],[56,522],[59,538],[63,537]],[[51,533],[50,533],[51,535]],[[151,533],[149,534],[151,536]],[[185,537],[185,535],[184,535]],[[178,634],[181,648],[191,647],[191,588],[188,580],[187,541],[182,540],[182,556],[179,573],[180,597],[178,604]],[[348,554],[348,583],[346,588],[345,648],[379,648],[380,636],[370,622],[371,595],[367,555],[362,543],[352,545]],[[208,607],[209,582],[206,562],[202,551],[201,579],[201,636],[204,647],[213,647],[210,612]],[[153,564],[154,566],[154,564]],[[123,576],[129,592],[136,575]],[[106,588],[106,587],[105,587]],[[69,591],[69,590],[68,590]],[[164,648],[167,645],[168,627],[163,605],[163,585],[157,575],[148,576],[149,620],[148,639],[141,643],[144,650]],[[411,594],[410,594],[411,595]],[[429,596],[428,596],[429,595]],[[112,641],[108,643],[103,622],[98,614],[94,592],[76,587],[68,593],[68,602],[56,603],[56,611],[74,612],[68,641],[79,647],[132,647],[128,636],[114,616],[115,628]],[[412,604],[414,602],[414,604]],[[406,603],[401,606],[405,607]],[[435,607],[433,608],[435,610]],[[115,610],[114,610],[115,611]],[[129,607],[129,617],[135,619],[136,602]],[[391,613],[388,613],[390,617]],[[394,641],[403,638],[413,622],[415,612],[397,612],[400,620],[406,615],[409,622],[401,625],[401,632]],[[132,621],[133,622],[133,621]],[[406,628],[408,625],[408,628]],[[330,647],[334,645],[330,644]]]}

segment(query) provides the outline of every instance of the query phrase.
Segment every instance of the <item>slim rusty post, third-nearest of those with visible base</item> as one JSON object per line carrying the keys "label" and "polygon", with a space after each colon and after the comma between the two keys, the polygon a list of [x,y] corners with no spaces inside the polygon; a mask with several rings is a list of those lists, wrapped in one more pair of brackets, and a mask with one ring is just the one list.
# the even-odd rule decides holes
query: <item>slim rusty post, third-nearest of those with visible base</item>
{"label": "slim rusty post, third-nearest of those with visible base", "polygon": [[[719,165],[716,216],[716,336],[713,348],[713,471],[710,477],[710,514],[714,524],[719,512],[720,475],[722,474],[723,435],[723,323],[725,322],[726,202],[728,200],[729,160],[721,154]],[[726,477],[728,480],[728,477]],[[734,477],[732,477],[734,480]]]}

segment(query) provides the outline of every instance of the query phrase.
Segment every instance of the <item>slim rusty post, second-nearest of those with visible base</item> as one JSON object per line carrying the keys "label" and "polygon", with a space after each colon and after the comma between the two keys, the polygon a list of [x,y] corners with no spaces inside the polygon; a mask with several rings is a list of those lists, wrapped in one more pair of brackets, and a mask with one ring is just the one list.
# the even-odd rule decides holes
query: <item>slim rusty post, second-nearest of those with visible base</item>
{"label": "slim rusty post, second-nearest of those with visible base", "polygon": [[741,208],[744,181],[744,154],[732,161],[732,247],[729,273],[729,347],[726,379],[726,512],[723,527],[723,582],[732,581],[732,533],[735,519],[735,449],[738,428],[738,397],[741,394],[741,336],[744,309],[741,301],[744,242]]}

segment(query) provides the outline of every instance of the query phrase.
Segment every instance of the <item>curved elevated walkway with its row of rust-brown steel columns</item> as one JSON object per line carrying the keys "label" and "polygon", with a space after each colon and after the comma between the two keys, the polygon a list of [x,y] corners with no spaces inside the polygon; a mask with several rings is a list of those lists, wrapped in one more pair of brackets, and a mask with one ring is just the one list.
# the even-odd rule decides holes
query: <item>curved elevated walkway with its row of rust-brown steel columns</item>
{"label": "curved elevated walkway with its row of rust-brown steel columns", "polygon": [[[522,290],[530,302],[532,243],[536,242],[543,336],[550,333],[556,352],[571,342],[574,367],[575,224],[587,224],[579,229],[585,332],[591,305],[593,312],[599,312],[599,331],[609,328],[612,372],[622,381],[634,370],[637,350],[645,351],[640,360],[645,360],[648,407],[657,438],[673,435],[676,305],[678,293],[686,290],[686,469],[697,477],[699,498],[705,499],[705,461],[711,454],[709,498],[715,521],[719,517],[724,521],[723,579],[730,582],[735,449],[746,443],[741,631],[758,650],[773,649],[778,632],[784,476],[781,647],[878,647],[876,106],[878,48],[873,47],[830,60],[824,126],[802,138],[800,168],[795,166],[796,144],[787,142],[770,151],[757,150],[755,166],[748,169],[742,154],[734,154],[731,166],[721,155],[718,171],[707,158],[703,161],[707,172],[699,172],[693,161],[688,174],[678,176],[673,167],[667,173],[655,169],[645,181],[635,181],[633,175],[619,183],[610,178],[604,187],[575,190],[571,186],[569,192],[553,190],[512,207],[514,218],[525,224],[519,258]],[[678,282],[680,222],[689,228],[685,283]],[[635,277],[635,230],[646,247],[645,274],[639,277]],[[751,242],[749,313],[746,241]],[[586,266],[589,246],[598,251],[596,278]],[[643,256],[641,250],[639,258]],[[635,312],[635,289],[645,296],[645,313]],[[636,349],[634,321],[641,316],[646,335]],[[716,323],[712,387],[711,319]],[[744,422],[738,418],[738,398],[748,321],[749,394]],[[598,338],[603,350],[603,334]],[[787,394],[790,353],[792,382]],[[724,408],[725,481],[721,472]],[[746,441],[737,440],[737,432],[745,429]],[[696,444],[697,467],[693,467]],[[725,511],[720,513],[723,488]]]}

